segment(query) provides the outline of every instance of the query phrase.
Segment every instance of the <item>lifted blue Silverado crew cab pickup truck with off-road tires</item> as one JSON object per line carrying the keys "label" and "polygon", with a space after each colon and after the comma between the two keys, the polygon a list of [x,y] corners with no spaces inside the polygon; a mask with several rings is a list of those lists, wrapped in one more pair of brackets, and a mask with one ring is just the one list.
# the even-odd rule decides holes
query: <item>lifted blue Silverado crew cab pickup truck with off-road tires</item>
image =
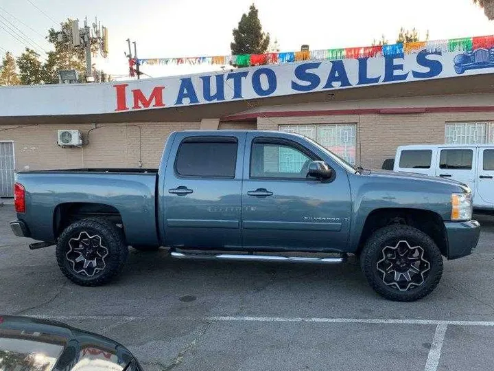
{"label": "lifted blue Silverado crew cab pickup truck with off-road tires", "polygon": [[454,181],[369,171],[302,135],[183,131],[156,169],[19,172],[17,236],[56,245],[62,272],[96,286],[117,276],[128,246],[174,258],[344,262],[360,258],[390,300],[429,294],[443,256],[473,252],[471,191]]}

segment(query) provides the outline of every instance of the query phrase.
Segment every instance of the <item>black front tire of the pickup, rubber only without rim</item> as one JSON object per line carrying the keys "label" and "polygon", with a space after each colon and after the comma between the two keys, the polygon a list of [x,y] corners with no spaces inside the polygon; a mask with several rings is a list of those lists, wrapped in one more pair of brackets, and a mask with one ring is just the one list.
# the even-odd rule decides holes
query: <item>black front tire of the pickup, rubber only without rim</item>
{"label": "black front tire of the pickup, rubber only without rim", "polygon": [[[397,246],[399,241],[403,240],[408,241],[410,246],[423,248],[424,256],[430,262],[430,269],[427,271],[427,276],[424,274],[425,278],[420,286],[399,291],[399,289],[383,282],[384,274],[379,276],[377,262],[384,254],[384,247]],[[443,257],[434,240],[421,230],[408,225],[388,225],[378,229],[368,238],[360,255],[360,267],[368,283],[379,295],[395,302],[414,302],[432,293],[438,285],[443,275]]]}

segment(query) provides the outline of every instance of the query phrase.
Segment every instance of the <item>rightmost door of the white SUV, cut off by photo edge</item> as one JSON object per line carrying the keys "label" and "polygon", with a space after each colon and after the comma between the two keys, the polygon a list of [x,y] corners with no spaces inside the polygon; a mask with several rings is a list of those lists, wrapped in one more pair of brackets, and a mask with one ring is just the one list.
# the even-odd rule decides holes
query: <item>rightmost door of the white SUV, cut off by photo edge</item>
{"label": "rightmost door of the white SUV, cut off by photo edge", "polygon": [[491,207],[494,205],[494,149],[479,148],[477,162],[477,199]]}

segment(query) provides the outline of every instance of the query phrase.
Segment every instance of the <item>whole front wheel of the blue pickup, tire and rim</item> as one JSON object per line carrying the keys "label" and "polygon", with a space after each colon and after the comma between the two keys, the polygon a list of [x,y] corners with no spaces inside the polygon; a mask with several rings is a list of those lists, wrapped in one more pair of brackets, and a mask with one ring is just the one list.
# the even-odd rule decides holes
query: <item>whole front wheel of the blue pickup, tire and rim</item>
{"label": "whole front wheel of the blue pickup, tire and rim", "polygon": [[413,302],[429,295],[443,274],[434,240],[408,225],[388,225],[368,238],[360,256],[368,283],[386,299]]}

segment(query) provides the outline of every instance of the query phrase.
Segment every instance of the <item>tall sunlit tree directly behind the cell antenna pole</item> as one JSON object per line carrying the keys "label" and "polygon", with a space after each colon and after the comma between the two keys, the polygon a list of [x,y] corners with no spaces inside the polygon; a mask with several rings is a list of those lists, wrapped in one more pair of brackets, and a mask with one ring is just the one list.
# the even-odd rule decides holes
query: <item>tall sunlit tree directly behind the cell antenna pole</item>
{"label": "tall sunlit tree directly behind the cell antenna pole", "polygon": [[62,32],[57,32],[53,28],[48,30],[47,41],[55,50],[48,53],[47,62],[41,71],[42,80],[46,84],[58,83],[58,71],[64,69],[75,69],[80,80],[84,80],[86,75],[84,47],[72,45],[71,22],[71,19],[67,19],[67,22],[62,23]]}

